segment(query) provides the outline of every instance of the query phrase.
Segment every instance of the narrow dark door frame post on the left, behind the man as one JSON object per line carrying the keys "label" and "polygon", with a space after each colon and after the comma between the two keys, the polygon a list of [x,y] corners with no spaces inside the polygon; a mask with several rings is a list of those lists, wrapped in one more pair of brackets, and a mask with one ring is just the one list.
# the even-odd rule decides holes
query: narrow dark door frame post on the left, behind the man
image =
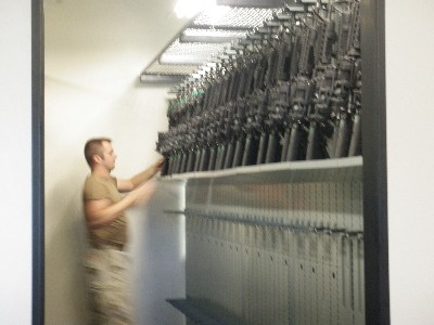
{"label": "narrow dark door frame post on the left, behind the man", "polygon": [[31,324],[44,321],[44,172],[43,172],[43,1],[31,0]]}

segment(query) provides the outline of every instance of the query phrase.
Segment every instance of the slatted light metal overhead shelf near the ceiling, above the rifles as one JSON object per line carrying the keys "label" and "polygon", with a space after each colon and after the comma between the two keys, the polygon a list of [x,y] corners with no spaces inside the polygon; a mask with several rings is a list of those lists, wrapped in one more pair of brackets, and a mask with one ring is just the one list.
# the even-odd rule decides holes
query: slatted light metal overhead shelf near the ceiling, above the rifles
{"label": "slatted light metal overhead shelf near the ceiling, above the rifles", "polygon": [[[143,83],[180,84],[213,57],[222,54],[226,48],[248,32],[263,26],[275,12],[282,9],[283,1],[224,1],[216,8],[204,10],[194,17],[173,39],[166,48],[142,70]],[[256,5],[256,6],[255,6]],[[218,17],[217,17],[218,16]],[[189,30],[201,31],[205,37],[189,37]],[[226,37],[209,37],[209,32],[220,31]]]}

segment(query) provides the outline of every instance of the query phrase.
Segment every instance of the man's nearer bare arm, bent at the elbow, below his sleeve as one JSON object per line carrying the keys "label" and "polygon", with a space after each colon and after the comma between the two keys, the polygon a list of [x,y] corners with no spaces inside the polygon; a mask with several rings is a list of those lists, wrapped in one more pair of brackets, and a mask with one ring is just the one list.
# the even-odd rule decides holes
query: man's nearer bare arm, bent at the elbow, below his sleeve
{"label": "man's nearer bare arm, bent at the elbow, below his sleeve", "polygon": [[85,202],[85,212],[89,227],[97,229],[108,224],[129,207],[148,202],[154,194],[155,188],[156,183],[150,181],[129,192],[115,204],[107,198]]}

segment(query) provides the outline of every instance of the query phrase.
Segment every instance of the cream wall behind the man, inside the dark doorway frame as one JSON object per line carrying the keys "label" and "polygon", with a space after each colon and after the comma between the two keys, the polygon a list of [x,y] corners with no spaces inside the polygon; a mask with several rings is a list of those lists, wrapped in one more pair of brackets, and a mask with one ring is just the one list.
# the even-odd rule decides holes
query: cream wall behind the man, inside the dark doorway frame
{"label": "cream wall behind the man, inside the dark doorway frame", "polygon": [[[171,2],[44,1],[47,325],[88,320],[81,268],[86,140],[113,139],[118,156],[113,173],[119,178],[158,156],[157,132],[167,129],[167,88],[144,87],[138,77],[183,24],[174,22],[171,9],[162,12]],[[183,245],[183,223],[180,216],[162,212],[167,195],[170,205],[164,208],[180,209],[180,187],[163,184],[152,204],[129,211],[140,324],[183,321],[165,302],[184,292],[183,260],[174,249]]]}

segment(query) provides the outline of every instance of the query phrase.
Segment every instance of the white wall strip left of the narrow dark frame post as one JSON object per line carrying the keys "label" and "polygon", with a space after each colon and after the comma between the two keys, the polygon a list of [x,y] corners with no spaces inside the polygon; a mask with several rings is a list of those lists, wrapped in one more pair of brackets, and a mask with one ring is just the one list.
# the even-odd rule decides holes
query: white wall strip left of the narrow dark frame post
{"label": "white wall strip left of the narrow dark frame post", "polygon": [[[16,24],[16,22],[21,22]],[[12,27],[13,26],[13,27]],[[0,324],[31,321],[30,2],[0,2]]]}

